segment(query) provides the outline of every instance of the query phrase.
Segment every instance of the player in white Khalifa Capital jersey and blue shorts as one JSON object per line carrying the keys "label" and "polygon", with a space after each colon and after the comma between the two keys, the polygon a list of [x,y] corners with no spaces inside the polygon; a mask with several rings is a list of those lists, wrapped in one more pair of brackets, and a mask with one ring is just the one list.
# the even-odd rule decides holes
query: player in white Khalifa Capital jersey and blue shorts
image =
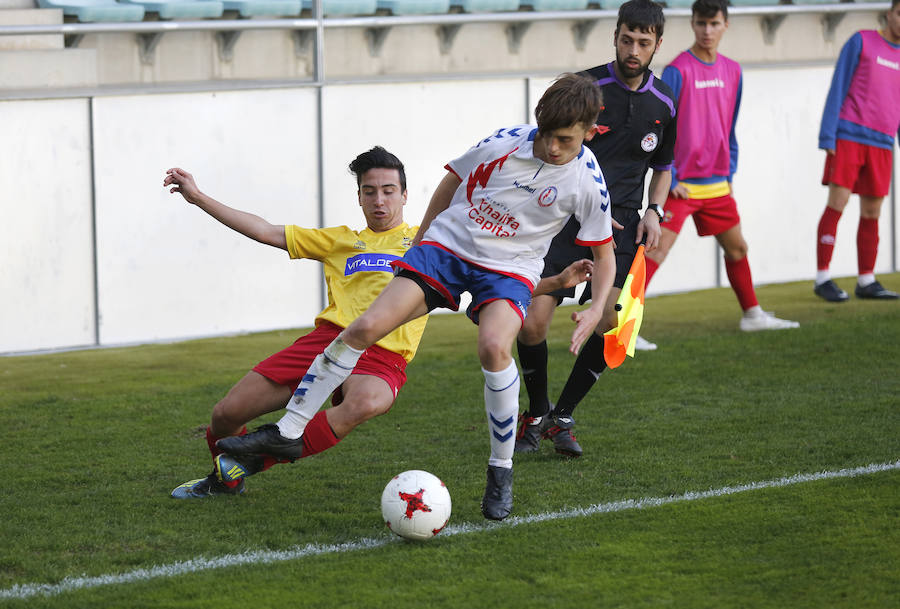
{"label": "player in white Khalifa Capital jersey and blue shorts", "polygon": [[277,425],[220,440],[240,461],[247,455],[294,459],[307,423],[357,365],[369,345],[436,307],[459,307],[478,324],[478,357],[491,454],[481,502],[485,518],[512,510],[512,456],[519,374],[512,344],[538,285],[550,240],[575,215],[577,239],[593,255],[592,304],[573,313],[570,350],[577,353],[603,313],[615,261],[610,200],[593,153],[600,91],[581,76],[561,76],[535,109],[537,127],[497,130],[447,164],[415,245],[394,263],[397,275],[374,303],[313,362]]}

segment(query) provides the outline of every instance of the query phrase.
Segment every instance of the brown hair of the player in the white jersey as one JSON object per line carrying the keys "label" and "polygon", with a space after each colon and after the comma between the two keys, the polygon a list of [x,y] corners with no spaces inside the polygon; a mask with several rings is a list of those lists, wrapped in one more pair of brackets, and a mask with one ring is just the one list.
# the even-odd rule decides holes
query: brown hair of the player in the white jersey
{"label": "brown hair of the player in the white jersey", "polygon": [[589,78],[567,72],[544,91],[534,109],[534,118],[541,133],[565,129],[575,123],[591,127],[602,105],[600,87]]}

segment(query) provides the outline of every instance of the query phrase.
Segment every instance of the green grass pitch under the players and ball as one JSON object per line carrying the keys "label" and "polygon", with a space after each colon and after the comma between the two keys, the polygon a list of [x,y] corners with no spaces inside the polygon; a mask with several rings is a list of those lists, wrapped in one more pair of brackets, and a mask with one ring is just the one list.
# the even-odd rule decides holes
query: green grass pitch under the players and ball
{"label": "green grass pitch under the players and ball", "polygon": [[[0,606],[900,606],[900,304],[827,304],[809,282],[758,293],[801,327],[741,333],[729,289],[648,299],[659,350],[576,411],[584,457],[517,456],[514,515],[536,518],[499,526],[479,512],[487,426],[461,315],[429,322],[390,413],[244,496],[199,501],[169,492],[210,470],[213,404],[300,331],[0,358]],[[549,341],[552,399],[571,310]],[[716,492],[869,464],[894,466]],[[381,490],[406,469],[446,482],[452,534],[386,530]],[[677,500],[544,516],[642,498]],[[251,552],[267,558],[229,562]]]}

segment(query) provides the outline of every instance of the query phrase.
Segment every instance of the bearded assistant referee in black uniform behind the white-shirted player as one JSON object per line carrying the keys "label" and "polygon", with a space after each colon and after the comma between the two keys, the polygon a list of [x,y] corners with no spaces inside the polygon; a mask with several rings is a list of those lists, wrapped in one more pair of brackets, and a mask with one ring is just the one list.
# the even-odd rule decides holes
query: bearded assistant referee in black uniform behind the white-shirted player
{"label": "bearded assistant referee in black uniform behind the white-shirted player", "polygon": [[[581,456],[581,446],[572,433],[572,412],[606,368],[603,333],[617,324],[614,306],[638,243],[646,237],[646,247],[652,249],[659,241],[662,204],[672,184],[676,122],[672,90],[650,71],[664,25],[659,4],[650,0],[626,2],[619,8],[616,23],[616,60],[582,72],[603,92],[597,133],[587,146],[600,162],[612,201],[616,279],[603,319],[578,355],[555,407],[547,395],[547,331],[556,307],[564,297],[574,296],[575,288],[537,296],[528,307],[517,347],[529,408],[520,416],[516,452],[536,451],[543,437],[553,441],[556,452]],[[648,169],[653,173],[647,212],[642,218],[640,209]],[[621,229],[616,230],[616,222]],[[589,248],[575,244],[578,229],[578,221],[573,217],[554,237],[544,259],[544,276],[555,275],[570,263],[591,257]],[[590,291],[584,294],[590,297]],[[586,300],[585,296],[582,299]],[[644,342],[644,348],[656,348]]]}

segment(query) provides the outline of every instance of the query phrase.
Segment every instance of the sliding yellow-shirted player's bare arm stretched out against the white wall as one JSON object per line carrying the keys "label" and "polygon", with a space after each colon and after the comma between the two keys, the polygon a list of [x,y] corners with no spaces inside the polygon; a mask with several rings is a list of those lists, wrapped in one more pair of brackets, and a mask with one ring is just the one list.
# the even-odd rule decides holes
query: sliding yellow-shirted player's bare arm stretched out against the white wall
{"label": "sliding yellow-shirted player's bare arm stretched out against the white wall", "polygon": [[283,225],[271,224],[259,216],[216,201],[201,192],[194,182],[194,176],[184,169],[173,167],[166,171],[163,186],[171,186],[169,192],[179,193],[185,201],[196,205],[228,228],[260,243],[287,250]]}

